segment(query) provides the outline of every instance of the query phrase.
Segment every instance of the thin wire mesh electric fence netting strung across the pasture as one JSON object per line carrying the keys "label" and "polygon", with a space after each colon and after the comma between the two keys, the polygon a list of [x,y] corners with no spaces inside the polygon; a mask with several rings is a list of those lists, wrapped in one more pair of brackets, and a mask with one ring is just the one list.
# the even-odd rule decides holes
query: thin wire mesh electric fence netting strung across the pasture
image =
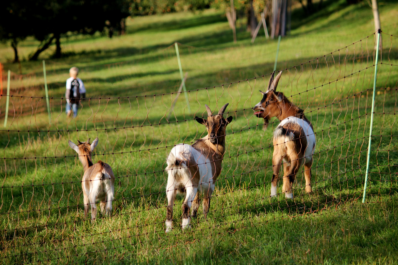
{"label": "thin wire mesh electric fence netting strung across the pasture", "polygon": [[[381,35],[368,201],[380,201],[398,190],[395,126],[398,37]],[[200,240],[203,236],[232,233],[250,224],[298,215],[310,218],[336,205],[361,200],[376,39],[377,34],[372,34],[329,54],[279,69],[283,74],[277,91],[304,111],[314,127],[317,142],[312,165],[313,192],[305,192],[300,169],[293,184],[293,199],[285,198],[281,182],[277,196],[270,196],[272,137],[279,120],[272,118],[264,130],[263,121],[252,110],[261,100],[259,90],[265,90],[270,74],[250,79],[242,76],[241,81],[193,89],[190,78],[200,83],[201,75],[212,71],[212,64],[223,58],[215,54],[213,62],[206,62],[207,68],[195,70],[195,65],[198,69],[205,66],[200,62],[201,52],[212,51],[179,45],[182,68],[188,77],[187,92],[177,92],[181,81],[175,81],[180,73],[176,70],[173,45],[145,62],[135,60],[82,68],[87,78],[94,70],[103,73],[104,79],[112,78],[108,72],[119,72],[116,81],[125,82],[126,89],[110,89],[114,96],[82,100],[73,119],[66,118],[64,97],[50,97],[49,123],[43,77],[39,77],[41,69],[28,75],[12,73],[10,94],[7,96],[4,89],[0,101],[0,118],[4,118],[6,98],[9,99],[8,121],[0,130],[3,149],[0,159],[4,161],[0,166],[2,262],[122,260]],[[129,87],[129,77],[137,64],[142,63],[140,70],[134,70],[135,76],[145,67],[149,69],[151,66],[145,66],[149,61],[170,65],[173,70],[164,70],[164,74],[175,74],[176,79],[162,83],[154,77],[150,81],[157,83],[159,89],[145,95],[145,84]],[[193,62],[191,67],[184,68],[189,61]],[[57,86],[63,89],[64,83],[59,83],[56,75],[68,69],[55,62],[46,64],[49,89]],[[5,81],[6,78],[3,75]],[[219,82],[225,83],[226,78],[220,75]],[[181,232],[183,197],[178,197],[174,207],[175,228],[166,234],[168,153],[176,144],[191,144],[207,134],[205,126],[194,118],[207,116],[205,104],[218,111],[226,103],[229,105],[224,116],[233,116],[233,120],[226,129],[226,153],[207,219],[199,211],[198,217],[191,220],[192,228]],[[98,213],[92,223],[83,213],[83,167],[68,140],[76,143],[95,137],[99,143],[94,149],[93,162],[102,160],[112,167],[115,199],[113,215],[105,217]]]}

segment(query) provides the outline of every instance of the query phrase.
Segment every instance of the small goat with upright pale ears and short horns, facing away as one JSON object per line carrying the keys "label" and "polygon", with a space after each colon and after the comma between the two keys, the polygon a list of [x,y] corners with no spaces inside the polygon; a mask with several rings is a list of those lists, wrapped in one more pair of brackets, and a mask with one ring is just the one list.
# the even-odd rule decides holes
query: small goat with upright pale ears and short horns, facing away
{"label": "small goat with upright pale ears and short horns, facing away", "polygon": [[112,201],[115,198],[115,176],[109,164],[101,160],[93,164],[91,153],[98,144],[98,137],[90,144],[90,139],[86,142],[77,141],[77,145],[69,141],[69,146],[79,155],[80,162],[83,164],[84,174],[82,180],[84,217],[88,213],[88,205],[91,205],[91,220],[97,215],[96,201],[101,201],[101,212],[107,216],[112,215]]}

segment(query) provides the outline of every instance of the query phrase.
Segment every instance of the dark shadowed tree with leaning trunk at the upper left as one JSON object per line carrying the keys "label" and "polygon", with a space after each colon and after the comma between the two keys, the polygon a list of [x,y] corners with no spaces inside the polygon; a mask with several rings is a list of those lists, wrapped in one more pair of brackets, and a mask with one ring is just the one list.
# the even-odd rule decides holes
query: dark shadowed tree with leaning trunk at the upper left
{"label": "dark shadowed tree with leaning trunk at the upper left", "polygon": [[30,60],[37,60],[54,39],[55,56],[59,57],[62,34],[94,34],[108,28],[111,37],[113,31],[121,31],[121,21],[130,15],[127,0],[14,0],[4,6],[0,11],[0,40],[11,40],[15,61],[18,61],[16,45],[27,36],[41,41]]}

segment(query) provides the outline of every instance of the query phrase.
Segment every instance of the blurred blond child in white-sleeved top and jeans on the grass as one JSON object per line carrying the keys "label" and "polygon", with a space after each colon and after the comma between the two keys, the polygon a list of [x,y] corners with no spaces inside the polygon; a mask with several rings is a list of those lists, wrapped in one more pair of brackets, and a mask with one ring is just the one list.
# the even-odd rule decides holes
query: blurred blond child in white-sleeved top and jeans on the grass
{"label": "blurred blond child in white-sleeved top and jeans on the grass", "polygon": [[77,108],[80,104],[80,99],[86,97],[86,88],[84,87],[82,79],[78,78],[79,69],[72,67],[69,70],[70,78],[66,80],[66,116],[72,118],[77,116]]}

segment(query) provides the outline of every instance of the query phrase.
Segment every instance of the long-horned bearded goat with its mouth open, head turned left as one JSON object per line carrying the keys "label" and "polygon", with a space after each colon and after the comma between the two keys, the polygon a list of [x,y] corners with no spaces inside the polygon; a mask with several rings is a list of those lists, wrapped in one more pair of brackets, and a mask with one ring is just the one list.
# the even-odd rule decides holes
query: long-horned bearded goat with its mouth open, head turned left
{"label": "long-horned bearded goat with its mouth open, head turned left", "polygon": [[304,164],[305,190],[311,192],[311,166],[316,139],[311,122],[303,111],[291,103],[282,92],[275,89],[282,72],[269,79],[268,90],[263,99],[254,106],[254,115],[264,119],[267,127],[271,117],[277,117],[281,123],[276,127],[273,135],[273,175],[271,182],[271,196],[277,195],[277,181],[283,161],[283,188],[286,198],[293,197],[292,186],[298,170]]}

